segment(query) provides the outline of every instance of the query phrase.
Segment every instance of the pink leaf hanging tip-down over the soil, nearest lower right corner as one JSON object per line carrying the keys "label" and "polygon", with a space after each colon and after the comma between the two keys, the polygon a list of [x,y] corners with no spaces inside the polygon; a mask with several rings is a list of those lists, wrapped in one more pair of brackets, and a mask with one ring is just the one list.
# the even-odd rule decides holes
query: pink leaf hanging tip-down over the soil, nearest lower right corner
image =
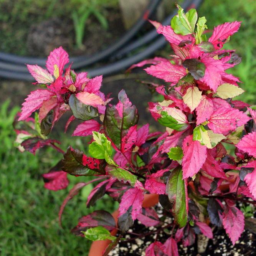
{"label": "pink leaf hanging tip-down over the soil, nearest lower right corner", "polygon": [[229,235],[231,242],[235,245],[236,241],[244,231],[244,215],[235,206],[228,206],[223,215],[223,226],[226,233]]}

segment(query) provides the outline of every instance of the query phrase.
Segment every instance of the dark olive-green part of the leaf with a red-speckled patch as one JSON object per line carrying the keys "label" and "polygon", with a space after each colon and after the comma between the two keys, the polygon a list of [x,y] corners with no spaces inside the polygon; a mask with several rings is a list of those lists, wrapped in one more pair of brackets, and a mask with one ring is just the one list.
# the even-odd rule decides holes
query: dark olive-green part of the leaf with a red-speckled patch
{"label": "dark olive-green part of the leaf with a red-speckled patch", "polygon": [[64,154],[64,159],[62,160],[62,170],[68,172],[71,175],[83,175],[92,176],[98,175],[99,173],[104,173],[102,170],[92,170],[83,165],[83,155],[82,151],[78,149],[72,149],[68,147],[67,152]]}

